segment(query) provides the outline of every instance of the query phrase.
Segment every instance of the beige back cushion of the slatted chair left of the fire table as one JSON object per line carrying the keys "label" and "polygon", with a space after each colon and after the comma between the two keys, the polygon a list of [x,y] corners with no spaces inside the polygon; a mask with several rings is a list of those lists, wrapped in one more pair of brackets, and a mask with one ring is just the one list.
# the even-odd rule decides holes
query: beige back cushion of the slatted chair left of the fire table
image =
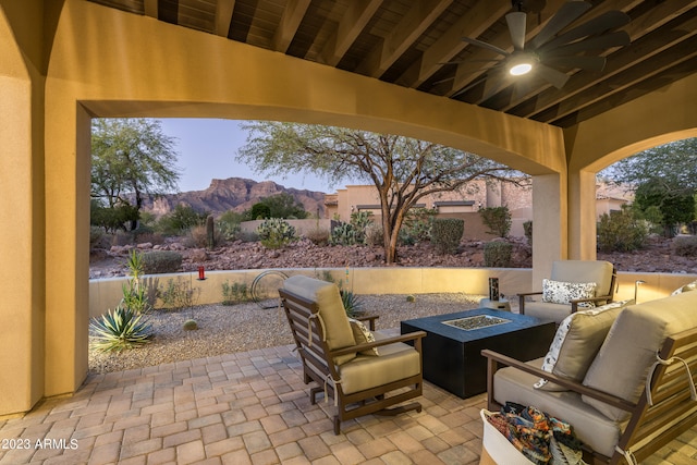
{"label": "beige back cushion of the slatted chair left of the fire table", "polygon": [[[283,282],[283,289],[317,304],[321,325],[325,328],[327,346],[330,351],[356,344],[337,284],[304,276],[294,276]],[[342,355],[337,357],[334,363],[341,365],[353,357],[355,354]]]}

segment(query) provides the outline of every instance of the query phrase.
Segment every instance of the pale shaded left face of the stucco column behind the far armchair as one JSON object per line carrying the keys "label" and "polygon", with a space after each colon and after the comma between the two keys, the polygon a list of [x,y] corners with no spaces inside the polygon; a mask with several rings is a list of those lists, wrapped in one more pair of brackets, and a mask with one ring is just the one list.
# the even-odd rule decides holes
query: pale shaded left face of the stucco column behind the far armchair
{"label": "pale shaded left face of the stucco column behind the far armchair", "polygon": [[542,290],[552,261],[566,258],[566,182],[561,174],[533,176],[533,283],[531,291]]}

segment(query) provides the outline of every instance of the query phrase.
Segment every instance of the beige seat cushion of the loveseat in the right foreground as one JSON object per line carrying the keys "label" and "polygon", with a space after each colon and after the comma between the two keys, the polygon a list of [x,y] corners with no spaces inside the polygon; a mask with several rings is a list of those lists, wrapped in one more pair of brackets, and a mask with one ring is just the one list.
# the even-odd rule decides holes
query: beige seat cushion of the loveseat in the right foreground
{"label": "beige seat cushion of the loveseat in the right foreground", "polygon": [[[540,367],[542,358],[528,362]],[[580,395],[572,391],[550,392],[533,388],[535,375],[506,367],[494,375],[493,397],[504,404],[506,401],[523,405],[534,405],[540,411],[567,421],[585,444],[603,455],[611,456],[620,440],[620,425],[585,404]]]}

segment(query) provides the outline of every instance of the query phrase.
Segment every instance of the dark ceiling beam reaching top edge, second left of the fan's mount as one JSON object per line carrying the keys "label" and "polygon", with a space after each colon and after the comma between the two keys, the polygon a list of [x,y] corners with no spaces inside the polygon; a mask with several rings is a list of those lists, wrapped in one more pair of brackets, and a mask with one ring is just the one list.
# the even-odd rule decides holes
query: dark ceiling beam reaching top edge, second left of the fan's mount
{"label": "dark ceiling beam reaching top edge, second left of the fan's mount", "polygon": [[396,27],[363,60],[356,72],[372,77],[382,76],[452,2],[453,0],[414,2]]}

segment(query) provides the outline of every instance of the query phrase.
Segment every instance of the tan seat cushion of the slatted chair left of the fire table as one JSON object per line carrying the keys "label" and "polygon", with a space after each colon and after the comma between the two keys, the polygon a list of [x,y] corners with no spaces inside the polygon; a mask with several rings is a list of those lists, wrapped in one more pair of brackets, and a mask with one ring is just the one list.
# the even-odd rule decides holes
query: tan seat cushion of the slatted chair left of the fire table
{"label": "tan seat cushion of the slatted chair left of the fire table", "polygon": [[[377,340],[387,338],[380,331],[376,331],[375,336]],[[418,352],[402,342],[381,345],[379,357],[358,355],[339,367],[341,389],[344,394],[399,381],[418,375],[420,371],[421,358]]]}

